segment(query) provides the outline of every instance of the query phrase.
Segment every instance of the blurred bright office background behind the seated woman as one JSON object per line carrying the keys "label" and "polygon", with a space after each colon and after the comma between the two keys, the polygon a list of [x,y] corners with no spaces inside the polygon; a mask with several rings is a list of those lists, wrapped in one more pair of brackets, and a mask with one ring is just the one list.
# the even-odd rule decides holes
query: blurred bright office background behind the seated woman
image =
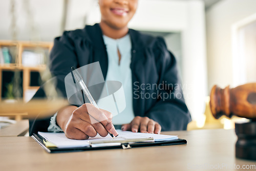
{"label": "blurred bright office background behind the seated woman", "polygon": [[[139,0],[129,27],[164,37],[176,56],[189,130],[233,128],[232,120],[211,117],[208,95],[215,84],[256,82],[255,7],[255,0]],[[97,0],[1,1],[0,99],[29,101],[53,39],[99,21]]]}

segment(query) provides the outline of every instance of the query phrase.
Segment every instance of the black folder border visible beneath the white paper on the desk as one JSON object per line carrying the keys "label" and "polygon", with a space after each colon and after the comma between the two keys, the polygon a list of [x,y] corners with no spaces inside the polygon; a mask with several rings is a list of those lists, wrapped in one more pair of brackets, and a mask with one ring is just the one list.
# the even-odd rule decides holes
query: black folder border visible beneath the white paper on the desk
{"label": "black folder border visible beneath the white paper on the desk", "polygon": [[[46,146],[45,142],[47,140],[40,136],[39,134],[33,134],[32,138],[41,145],[41,147],[48,153],[61,153],[61,152],[77,152],[77,151],[87,151],[87,150],[99,150],[99,149],[130,149],[133,147],[142,147],[142,146],[155,146],[155,145],[178,145],[178,144],[186,144],[187,141],[185,139],[174,139],[174,140],[164,140],[154,142],[151,140],[138,141],[138,142],[120,142],[119,144],[107,144],[107,145],[90,145],[83,146],[79,148],[57,148],[57,147],[49,147]],[[95,144],[95,143],[94,143]]]}

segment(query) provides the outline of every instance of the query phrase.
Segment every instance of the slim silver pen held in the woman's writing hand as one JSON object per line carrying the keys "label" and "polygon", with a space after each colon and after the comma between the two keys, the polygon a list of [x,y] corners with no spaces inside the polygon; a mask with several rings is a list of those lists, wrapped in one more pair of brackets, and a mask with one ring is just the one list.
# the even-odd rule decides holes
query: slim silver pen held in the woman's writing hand
{"label": "slim silver pen held in the woman's writing hand", "polygon": [[[97,109],[99,109],[98,105],[93,99],[93,96],[91,95],[90,91],[88,90],[86,84],[83,82],[82,77],[80,76],[79,72],[75,69],[74,66],[71,67],[73,76],[75,80],[78,82],[80,88],[83,90],[84,93],[86,93],[86,96],[88,97],[90,103],[94,105]],[[114,138],[114,135],[109,132],[110,136]],[[117,135],[118,136],[118,135]]]}

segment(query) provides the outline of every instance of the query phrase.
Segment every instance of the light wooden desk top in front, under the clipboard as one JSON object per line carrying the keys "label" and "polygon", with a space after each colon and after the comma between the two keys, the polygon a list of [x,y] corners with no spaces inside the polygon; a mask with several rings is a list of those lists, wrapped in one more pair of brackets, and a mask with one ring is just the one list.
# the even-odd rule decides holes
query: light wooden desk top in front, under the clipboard
{"label": "light wooden desk top in front, under the clipboard", "polygon": [[[150,146],[48,154],[31,137],[0,137],[1,170],[236,170],[205,168],[218,164],[240,167],[256,162],[235,157],[234,130],[164,132],[187,139],[187,145]],[[195,169],[189,169],[193,167]],[[196,169],[201,167],[201,169]],[[237,169],[250,170],[250,169]],[[252,169],[251,169],[252,170]]]}

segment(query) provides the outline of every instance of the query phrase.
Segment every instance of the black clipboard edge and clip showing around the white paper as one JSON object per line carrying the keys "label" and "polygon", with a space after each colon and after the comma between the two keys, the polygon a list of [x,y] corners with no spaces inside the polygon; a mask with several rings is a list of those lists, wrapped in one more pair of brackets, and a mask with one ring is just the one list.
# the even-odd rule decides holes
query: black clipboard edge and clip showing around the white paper
{"label": "black clipboard edge and clip showing around the white paper", "polygon": [[156,145],[178,145],[186,144],[185,139],[174,139],[174,140],[164,140],[164,141],[154,141],[154,138],[138,138],[129,139],[123,141],[94,141],[90,143],[90,146],[83,146],[78,148],[57,148],[47,141],[44,137],[39,134],[33,134],[31,136],[46,152],[48,153],[63,153],[63,152],[78,152],[78,151],[88,151],[88,150],[103,150],[103,149],[131,149],[133,147],[142,146],[156,146]]}

